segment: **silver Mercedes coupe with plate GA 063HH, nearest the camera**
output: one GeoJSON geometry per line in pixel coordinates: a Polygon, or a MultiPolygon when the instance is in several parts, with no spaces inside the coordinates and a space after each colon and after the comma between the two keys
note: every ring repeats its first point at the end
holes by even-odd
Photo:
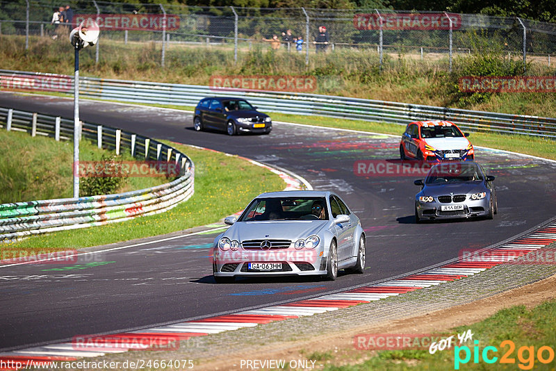
{"type": "Polygon", "coordinates": [[[331,192],[268,192],[214,240],[213,275],[218,283],[234,277],[320,275],[338,270],[363,273],[365,233],[361,222],[331,192]]]}

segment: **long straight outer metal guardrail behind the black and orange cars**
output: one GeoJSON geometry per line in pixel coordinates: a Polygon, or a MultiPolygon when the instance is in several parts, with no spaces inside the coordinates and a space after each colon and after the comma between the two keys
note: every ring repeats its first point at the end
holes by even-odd
{"type": "MultiPolygon", "coordinates": [[[[72,92],[72,76],[0,69],[2,90],[72,92]]],[[[556,139],[556,118],[457,108],[377,101],[330,95],[271,91],[230,91],[200,85],[152,83],[81,78],[81,94],[92,99],[145,104],[195,106],[210,96],[238,96],[269,112],[314,115],[372,122],[408,124],[412,121],[445,119],[462,129],[505,134],[535,135],[556,139]]]]}

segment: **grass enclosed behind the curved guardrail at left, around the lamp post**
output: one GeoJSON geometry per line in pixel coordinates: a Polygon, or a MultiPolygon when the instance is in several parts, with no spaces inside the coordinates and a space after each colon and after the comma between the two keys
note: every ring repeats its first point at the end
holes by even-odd
{"type": "MultiPolygon", "coordinates": [[[[72,197],[72,142],[38,135],[35,138],[19,131],[0,131],[0,204],[35,199],[72,197]]],[[[87,140],[80,145],[80,160],[101,160],[101,156],[115,154],[98,149],[87,140]]],[[[122,160],[133,160],[122,154],[122,160]]],[[[124,179],[116,192],[139,190],[165,183],[164,177],[134,177],[124,179]]]]}

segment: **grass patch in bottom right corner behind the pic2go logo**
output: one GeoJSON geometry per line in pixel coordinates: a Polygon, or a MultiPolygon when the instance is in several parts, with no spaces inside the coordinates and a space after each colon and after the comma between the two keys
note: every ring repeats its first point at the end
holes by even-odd
{"type": "MultiPolygon", "coordinates": [[[[495,315],[470,326],[456,327],[450,335],[463,333],[471,329],[473,340],[478,340],[478,361],[474,362],[473,342],[464,344],[469,347],[471,358],[467,363],[459,362],[459,370],[554,370],[555,358],[548,364],[541,363],[537,356],[539,348],[548,346],[552,354],[556,351],[556,301],[544,302],[528,310],[525,306],[514,306],[502,309],[495,315]],[[510,353],[510,345],[500,345],[504,340],[512,340],[515,349],[510,353]],[[482,358],[485,347],[493,346],[489,358],[498,357],[494,363],[486,363],[482,358]],[[521,347],[532,347],[533,352],[521,347]],[[514,363],[500,363],[504,354],[514,363]],[[521,357],[520,357],[521,355],[521,357]]],[[[455,336],[455,340],[457,337],[455,336]]],[[[456,345],[459,345],[456,343],[456,345]]],[[[376,356],[359,365],[344,365],[325,367],[326,371],[362,371],[362,370],[455,370],[455,348],[445,349],[435,354],[428,350],[404,349],[378,352],[376,356]]],[[[458,352],[459,359],[465,359],[465,351],[458,352]]],[[[545,349],[541,355],[549,358],[549,351],[545,349]]]]}

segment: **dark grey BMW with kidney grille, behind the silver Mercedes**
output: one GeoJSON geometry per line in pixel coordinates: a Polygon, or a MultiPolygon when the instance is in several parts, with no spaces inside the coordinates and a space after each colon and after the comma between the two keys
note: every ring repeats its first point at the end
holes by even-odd
{"type": "Polygon", "coordinates": [[[415,220],[486,217],[498,213],[494,176],[474,162],[439,163],[427,178],[415,181],[421,186],[415,197],[415,220]]]}

